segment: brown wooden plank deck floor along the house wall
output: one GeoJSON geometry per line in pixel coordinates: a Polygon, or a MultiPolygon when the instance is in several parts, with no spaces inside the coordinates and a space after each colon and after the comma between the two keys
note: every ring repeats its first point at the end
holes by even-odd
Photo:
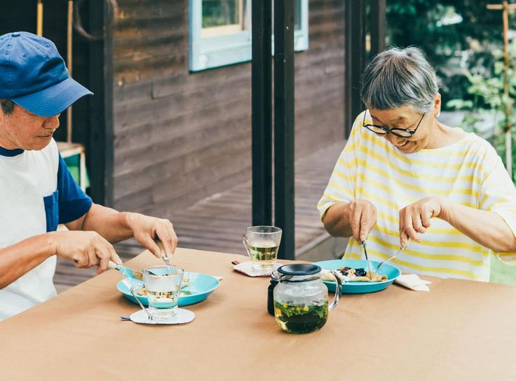
{"type": "MultiPolygon", "coordinates": [[[[299,255],[311,242],[325,234],[316,209],[344,140],[296,160],[295,163],[295,240],[299,255]]],[[[179,237],[179,247],[222,251],[245,255],[242,235],[251,224],[251,182],[217,193],[177,211],[171,218],[179,237]]],[[[116,244],[122,261],[140,254],[143,248],[134,240],[116,244]]],[[[77,269],[72,263],[58,261],[54,282],[64,291],[95,275],[95,269],[77,269]]]]}

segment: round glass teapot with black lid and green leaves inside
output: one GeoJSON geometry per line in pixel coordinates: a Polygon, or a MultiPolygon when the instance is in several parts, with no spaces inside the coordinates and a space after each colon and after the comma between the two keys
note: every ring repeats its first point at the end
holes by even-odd
{"type": "Polygon", "coordinates": [[[326,324],[328,311],[333,310],[341,298],[341,280],[337,292],[328,306],[328,289],[320,279],[321,268],[309,263],[283,265],[278,268],[279,283],[274,288],[274,317],[288,333],[317,331],[326,324]]]}

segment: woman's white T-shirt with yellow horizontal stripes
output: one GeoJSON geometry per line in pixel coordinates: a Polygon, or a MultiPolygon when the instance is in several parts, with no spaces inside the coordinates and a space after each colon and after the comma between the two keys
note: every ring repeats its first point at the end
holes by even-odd
{"type": "MultiPolygon", "coordinates": [[[[335,202],[372,202],[377,221],[367,239],[370,259],[388,258],[399,249],[400,209],[433,195],[496,212],[516,232],[516,188],[487,141],[468,133],[449,146],[402,153],[363,128],[363,118],[362,112],[353,123],[318,209],[322,218],[335,202]]],[[[368,112],[366,123],[372,123],[368,112]]],[[[433,219],[421,242],[410,242],[393,263],[402,272],[488,281],[489,251],[446,221],[433,219]]],[[[497,255],[516,265],[515,253],[497,255]]],[[[355,239],[344,256],[362,257],[355,239]]]]}

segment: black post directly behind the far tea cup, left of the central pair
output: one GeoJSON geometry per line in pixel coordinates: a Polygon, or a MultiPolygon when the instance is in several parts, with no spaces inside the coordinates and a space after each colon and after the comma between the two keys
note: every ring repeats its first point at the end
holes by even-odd
{"type": "Polygon", "coordinates": [[[272,5],[252,1],[252,224],[272,225],[272,5]]]}

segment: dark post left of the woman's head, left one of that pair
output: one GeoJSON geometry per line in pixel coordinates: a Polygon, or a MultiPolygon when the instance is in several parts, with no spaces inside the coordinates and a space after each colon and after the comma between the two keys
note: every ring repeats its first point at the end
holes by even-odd
{"type": "Polygon", "coordinates": [[[344,133],[346,137],[351,132],[353,120],[362,111],[360,99],[360,79],[365,64],[365,1],[346,0],[346,86],[344,99],[346,110],[344,118],[344,133]]]}

